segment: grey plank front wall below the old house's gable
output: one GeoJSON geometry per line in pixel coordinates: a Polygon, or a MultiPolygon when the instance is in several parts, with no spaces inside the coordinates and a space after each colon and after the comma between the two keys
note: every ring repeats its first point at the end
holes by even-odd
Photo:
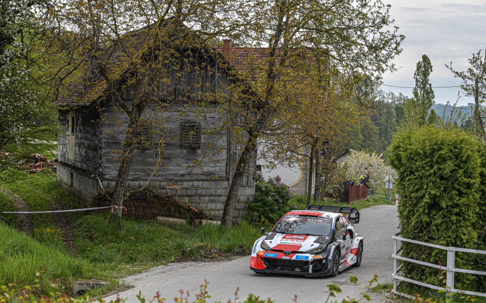
{"type": "MultiPolygon", "coordinates": [[[[165,132],[154,133],[152,148],[135,150],[127,188],[141,188],[148,185],[162,194],[174,196],[182,204],[192,205],[211,217],[220,218],[230,177],[234,171],[231,168],[238,160],[235,157],[239,155],[239,150],[229,150],[228,129],[219,129],[221,122],[216,108],[203,109],[173,105],[166,108],[164,113],[156,111],[157,108],[151,107],[146,110],[144,117],[155,119],[160,123],[163,121],[165,132]],[[205,114],[196,114],[201,111],[205,114]],[[180,124],[185,121],[200,123],[202,131],[200,149],[181,148],[180,124]],[[163,142],[160,151],[159,142],[163,142]],[[218,152],[208,154],[209,147],[218,152]],[[232,155],[232,158],[229,158],[229,155],[232,155]],[[194,161],[200,161],[200,167],[193,167],[194,161]]],[[[106,105],[101,116],[103,149],[100,177],[103,186],[113,188],[118,171],[117,158],[121,152],[121,142],[126,136],[128,116],[121,113],[119,108],[113,108],[112,105],[106,105]],[[117,114],[113,115],[113,113],[117,114]]],[[[251,166],[244,178],[243,187],[238,193],[239,203],[236,206],[238,217],[246,213],[244,203],[254,197],[253,172],[251,166]]]]}

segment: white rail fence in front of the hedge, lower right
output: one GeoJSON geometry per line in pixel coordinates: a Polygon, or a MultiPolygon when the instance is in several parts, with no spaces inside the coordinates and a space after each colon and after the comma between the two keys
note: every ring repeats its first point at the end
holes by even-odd
{"type": "Polygon", "coordinates": [[[403,238],[403,237],[400,237],[399,234],[394,235],[393,236],[393,255],[392,255],[392,257],[393,257],[393,275],[392,275],[393,276],[393,290],[392,290],[392,293],[397,294],[397,295],[401,295],[401,296],[405,296],[405,297],[409,297],[409,298],[413,298],[413,296],[411,296],[409,294],[402,293],[402,292],[399,292],[399,291],[396,290],[397,281],[400,280],[400,281],[406,281],[406,282],[410,282],[410,283],[417,284],[417,285],[420,285],[420,286],[432,288],[432,289],[435,289],[435,290],[444,290],[444,291],[447,291],[447,292],[450,292],[450,293],[463,293],[463,294],[469,294],[469,295],[486,296],[486,293],[483,293],[483,292],[456,289],[454,287],[454,274],[456,272],[486,276],[485,271],[456,268],[456,251],[470,252],[471,254],[486,255],[486,250],[477,250],[477,249],[468,249],[468,248],[459,248],[459,247],[446,247],[446,246],[435,245],[435,244],[430,244],[430,243],[425,243],[425,242],[421,242],[421,241],[403,238]],[[447,250],[447,265],[444,267],[444,266],[440,266],[440,265],[436,265],[436,264],[432,264],[432,263],[422,262],[422,261],[398,256],[398,253],[401,251],[401,247],[399,249],[397,249],[398,248],[398,241],[410,242],[410,243],[415,243],[417,245],[423,245],[423,246],[429,246],[429,247],[433,247],[433,248],[447,250]],[[412,262],[412,263],[415,263],[415,264],[420,264],[420,265],[433,267],[433,268],[437,268],[439,270],[446,271],[446,288],[399,276],[398,272],[400,271],[401,267],[397,268],[397,260],[402,260],[402,261],[405,261],[405,262],[412,262]]]}

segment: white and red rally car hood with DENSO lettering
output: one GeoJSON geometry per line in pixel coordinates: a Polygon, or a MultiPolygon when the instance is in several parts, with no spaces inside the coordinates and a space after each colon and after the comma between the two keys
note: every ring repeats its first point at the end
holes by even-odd
{"type": "Polygon", "coordinates": [[[265,237],[265,243],[275,251],[304,252],[319,245],[330,242],[329,236],[307,236],[294,234],[270,233],[265,237]]]}

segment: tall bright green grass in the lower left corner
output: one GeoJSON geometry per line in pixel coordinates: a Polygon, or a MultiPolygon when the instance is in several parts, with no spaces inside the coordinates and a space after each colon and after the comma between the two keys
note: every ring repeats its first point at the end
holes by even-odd
{"type": "Polygon", "coordinates": [[[0,223],[0,247],[1,285],[14,281],[18,286],[33,285],[38,279],[38,290],[47,293],[53,290],[54,279],[59,279],[60,285],[68,289],[74,278],[92,275],[89,262],[57,246],[38,242],[3,223],[0,223]]]}

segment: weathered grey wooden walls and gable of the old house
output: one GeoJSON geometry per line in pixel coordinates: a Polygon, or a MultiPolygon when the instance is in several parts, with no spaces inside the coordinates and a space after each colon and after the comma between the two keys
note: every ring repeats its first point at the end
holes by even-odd
{"type": "MultiPolygon", "coordinates": [[[[221,123],[215,106],[201,108],[191,102],[201,99],[209,100],[209,104],[228,102],[224,95],[231,80],[213,59],[202,55],[194,55],[191,60],[181,59],[177,69],[169,70],[169,81],[161,82],[157,89],[157,98],[168,107],[153,104],[144,112],[143,119],[150,122],[153,130],[154,144],[135,151],[126,187],[135,189],[148,185],[162,194],[174,196],[182,204],[192,205],[213,218],[221,218],[240,148],[231,146],[227,127],[208,134],[221,123]],[[180,127],[184,121],[200,124],[200,148],[181,148],[180,127]],[[211,159],[208,155],[205,157],[207,143],[212,143],[212,149],[218,150],[211,159]],[[195,161],[199,162],[199,167],[192,168],[195,161]]],[[[119,92],[127,105],[138,93],[136,87],[119,92]]],[[[88,173],[97,173],[106,189],[114,187],[117,158],[126,136],[128,116],[123,110],[110,100],[105,100],[101,108],[100,112],[77,110],[79,125],[74,161],[68,159],[68,111],[60,111],[59,115],[59,124],[63,128],[59,138],[59,160],[65,165],[61,163],[58,179],[74,194],[84,194],[84,197],[93,194],[98,186],[94,183],[89,188],[88,183],[95,179],[84,178],[88,173]],[[72,187],[69,186],[71,172],[76,174],[72,187]]],[[[247,212],[245,202],[254,198],[254,165],[247,169],[237,196],[236,217],[247,212]]]]}

